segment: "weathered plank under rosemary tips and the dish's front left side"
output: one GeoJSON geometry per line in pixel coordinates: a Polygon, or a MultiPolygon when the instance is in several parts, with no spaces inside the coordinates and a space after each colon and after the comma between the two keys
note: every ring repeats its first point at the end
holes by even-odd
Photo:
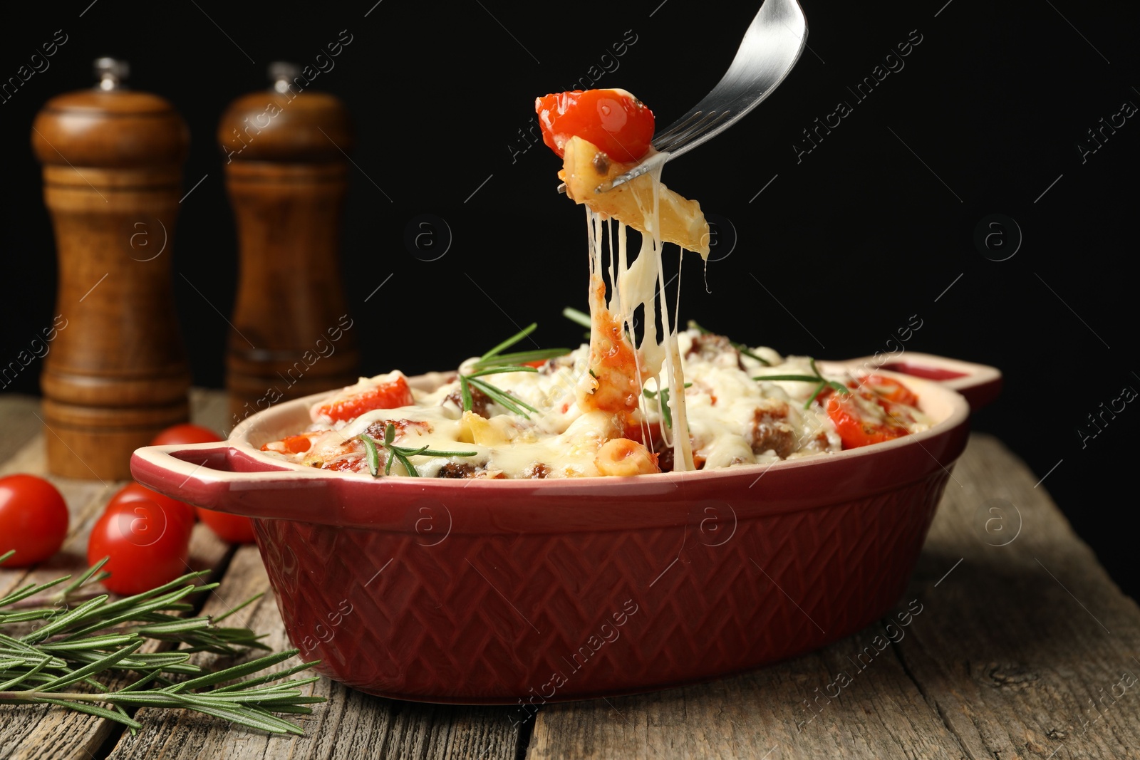
{"type": "MultiPolygon", "coordinates": [[[[264,591],[258,603],[227,620],[269,632],[274,649],[288,639],[269,579],[256,547],[242,547],[230,563],[225,583],[204,612],[219,614],[250,596],[264,591]]],[[[201,655],[211,660],[213,655],[201,655]]],[[[295,662],[295,661],[293,661],[295,662]]],[[[286,668],[293,662],[282,663],[286,668]]],[[[416,704],[370,696],[321,679],[312,694],[328,700],[300,717],[304,736],[267,736],[259,732],[189,711],[140,710],[137,719],[147,730],[124,734],[108,760],[163,757],[171,760],[227,757],[234,760],[268,758],[514,758],[518,730],[505,708],[416,704]]]]}

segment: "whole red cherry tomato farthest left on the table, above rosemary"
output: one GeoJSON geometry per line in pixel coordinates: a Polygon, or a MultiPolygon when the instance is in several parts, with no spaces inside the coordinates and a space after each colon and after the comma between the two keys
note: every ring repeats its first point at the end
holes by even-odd
{"type": "Polygon", "coordinates": [[[56,487],[35,475],[0,477],[0,554],[15,549],[5,567],[47,559],[67,537],[67,505],[56,487]]]}

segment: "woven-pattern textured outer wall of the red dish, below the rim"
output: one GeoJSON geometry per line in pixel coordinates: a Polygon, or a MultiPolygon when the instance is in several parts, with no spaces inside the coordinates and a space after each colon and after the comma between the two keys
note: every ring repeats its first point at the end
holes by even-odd
{"type": "Polygon", "coordinates": [[[538,704],[715,678],[864,628],[902,595],[946,479],[738,516],[722,546],[709,544],[731,512],[700,501],[675,528],[505,526],[438,546],[426,531],[263,520],[258,546],[290,638],[329,678],[402,700],[538,704]],[[708,520],[720,524],[701,531],[708,520]]]}

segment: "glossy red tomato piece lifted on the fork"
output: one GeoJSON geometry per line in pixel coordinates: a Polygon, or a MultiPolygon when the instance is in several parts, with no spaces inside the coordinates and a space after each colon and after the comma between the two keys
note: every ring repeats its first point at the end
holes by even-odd
{"type": "Polygon", "coordinates": [[[619,163],[637,161],[653,140],[653,112],[625,90],[573,90],[535,98],[543,141],[562,156],[571,137],[619,163]]]}

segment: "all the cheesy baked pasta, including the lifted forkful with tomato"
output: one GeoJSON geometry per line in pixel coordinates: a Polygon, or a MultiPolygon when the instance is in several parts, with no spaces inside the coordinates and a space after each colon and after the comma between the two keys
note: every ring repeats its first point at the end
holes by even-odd
{"type": "Polygon", "coordinates": [[[700,204],[661,185],[660,164],[604,189],[652,150],[652,112],[625,90],[549,95],[536,111],[567,195],[586,207],[589,343],[504,353],[531,326],[431,387],[399,371],[361,378],[264,451],[377,477],[632,476],[826,455],[928,426],[894,379],[829,377],[807,357],[670,324],[662,246],[708,255],[700,204]],[[642,232],[636,253],[627,227],[642,232]]]}

